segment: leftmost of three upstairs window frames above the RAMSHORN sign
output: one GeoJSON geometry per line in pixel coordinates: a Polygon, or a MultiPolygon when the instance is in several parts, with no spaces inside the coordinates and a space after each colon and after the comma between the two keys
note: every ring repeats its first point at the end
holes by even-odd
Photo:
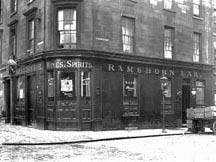
{"type": "Polygon", "coordinates": [[[131,54],[131,53],[135,52],[135,18],[128,17],[128,16],[122,16],[121,40],[122,40],[122,51],[124,53],[130,53],[131,54]],[[129,30],[131,32],[131,35],[130,34],[127,35],[126,32],[124,32],[124,30],[123,30],[124,26],[131,27],[131,28],[127,28],[127,30],[129,30]],[[125,44],[124,43],[125,42],[125,37],[128,38],[128,42],[130,42],[130,44],[125,44]],[[127,46],[127,47],[129,46],[130,49],[129,50],[125,49],[126,48],[125,46],[127,46]]]}

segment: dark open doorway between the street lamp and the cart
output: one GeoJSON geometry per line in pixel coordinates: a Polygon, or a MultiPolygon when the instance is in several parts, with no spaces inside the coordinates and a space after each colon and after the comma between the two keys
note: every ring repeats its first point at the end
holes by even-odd
{"type": "Polygon", "coordinates": [[[182,86],[182,123],[186,124],[187,109],[190,108],[190,86],[182,86]]]}

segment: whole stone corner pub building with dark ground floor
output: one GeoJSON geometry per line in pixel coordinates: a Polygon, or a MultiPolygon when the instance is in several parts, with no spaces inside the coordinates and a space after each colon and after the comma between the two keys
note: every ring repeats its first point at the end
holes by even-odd
{"type": "Polygon", "coordinates": [[[6,121],[49,130],[162,128],[164,113],[166,127],[185,124],[187,108],[213,104],[213,9],[179,3],[10,1],[15,11],[3,10],[2,27],[10,37],[2,54],[6,121]],[[8,67],[9,59],[17,64],[8,67]]]}

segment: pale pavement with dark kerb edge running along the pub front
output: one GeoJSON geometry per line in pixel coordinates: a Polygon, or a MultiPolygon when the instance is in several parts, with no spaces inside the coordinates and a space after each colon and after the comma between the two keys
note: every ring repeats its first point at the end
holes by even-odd
{"type": "Polygon", "coordinates": [[[53,145],[191,134],[187,128],[112,131],[52,131],[0,122],[0,145],[53,145]]]}

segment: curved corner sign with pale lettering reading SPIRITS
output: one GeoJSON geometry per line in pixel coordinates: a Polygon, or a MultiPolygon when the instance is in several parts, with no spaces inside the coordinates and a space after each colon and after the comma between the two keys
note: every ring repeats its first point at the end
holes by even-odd
{"type": "Polygon", "coordinates": [[[86,61],[62,60],[57,59],[53,62],[47,62],[48,69],[61,69],[61,68],[92,68],[92,63],[86,61]]]}

